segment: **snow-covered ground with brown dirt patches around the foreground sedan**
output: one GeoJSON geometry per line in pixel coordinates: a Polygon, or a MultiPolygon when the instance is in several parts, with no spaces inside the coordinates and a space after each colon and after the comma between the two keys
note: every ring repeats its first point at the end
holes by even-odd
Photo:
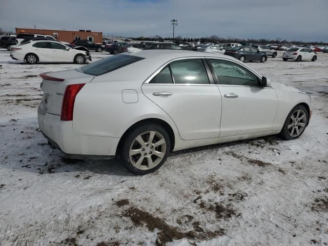
{"type": "Polygon", "coordinates": [[[117,160],[65,159],[40,133],[37,75],[78,65],[0,50],[0,245],[327,245],[328,54],[247,64],[312,93],[299,139],[179,151],[134,176],[117,160]]]}

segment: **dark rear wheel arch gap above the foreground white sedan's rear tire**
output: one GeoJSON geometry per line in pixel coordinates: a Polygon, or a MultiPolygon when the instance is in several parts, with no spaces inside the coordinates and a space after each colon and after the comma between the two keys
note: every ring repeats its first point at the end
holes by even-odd
{"type": "Polygon", "coordinates": [[[129,127],[125,131],[125,133],[119,139],[118,145],[116,147],[116,155],[119,154],[118,150],[120,149],[122,144],[124,144],[124,140],[127,138],[129,133],[131,133],[135,128],[137,128],[141,125],[145,125],[145,124],[156,124],[156,125],[159,125],[162,128],[164,128],[167,131],[167,133],[169,134],[169,137],[170,137],[170,142],[171,142],[171,150],[170,151],[172,151],[174,149],[175,136],[174,136],[174,131],[173,131],[172,127],[170,126],[170,124],[168,124],[168,122],[166,122],[165,120],[162,120],[162,119],[148,118],[148,119],[142,119],[142,120],[139,120],[139,121],[135,122],[135,124],[133,124],[131,127],[129,127]]]}

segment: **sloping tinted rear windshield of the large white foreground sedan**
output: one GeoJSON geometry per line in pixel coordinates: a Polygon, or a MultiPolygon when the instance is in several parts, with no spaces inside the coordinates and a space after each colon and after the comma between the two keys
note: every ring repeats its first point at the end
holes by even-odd
{"type": "Polygon", "coordinates": [[[128,66],[129,64],[135,63],[136,61],[142,59],[145,58],[133,55],[114,55],[105,59],[97,60],[94,63],[75,70],[81,73],[98,76],[128,66]]]}

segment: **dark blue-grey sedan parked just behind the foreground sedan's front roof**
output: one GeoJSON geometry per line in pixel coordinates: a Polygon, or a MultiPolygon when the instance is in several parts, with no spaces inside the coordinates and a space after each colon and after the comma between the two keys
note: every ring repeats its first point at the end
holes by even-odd
{"type": "Polygon", "coordinates": [[[224,52],[225,55],[230,55],[244,62],[245,60],[253,61],[259,60],[264,63],[268,59],[268,55],[265,52],[259,51],[254,47],[237,47],[233,49],[228,49],[224,52]]]}

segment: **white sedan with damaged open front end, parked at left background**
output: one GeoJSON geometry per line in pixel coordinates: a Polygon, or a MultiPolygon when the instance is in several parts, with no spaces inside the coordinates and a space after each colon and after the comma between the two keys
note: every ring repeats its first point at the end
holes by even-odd
{"type": "Polygon", "coordinates": [[[91,59],[87,51],[72,49],[59,42],[31,40],[29,43],[11,48],[11,58],[24,60],[28,64],[40,62],[72,62],[83,64],[91,59]]]}

